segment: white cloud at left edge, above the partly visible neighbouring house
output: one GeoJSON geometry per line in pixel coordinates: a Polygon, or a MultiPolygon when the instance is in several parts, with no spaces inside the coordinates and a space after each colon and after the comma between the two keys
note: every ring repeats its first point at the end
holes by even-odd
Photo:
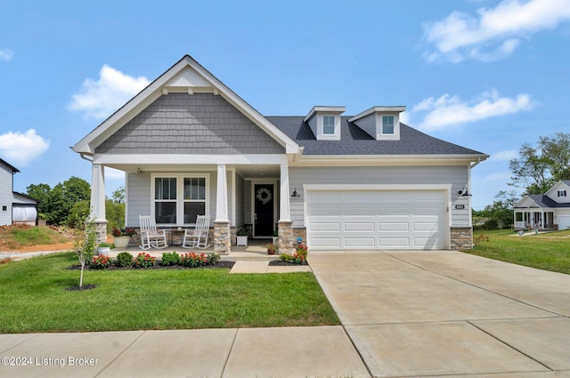
{"type": "Polygon", "coordinates": [[[0,155],[10,164],[28,165],[49,148],[50,141],[37,135],[34,129],[26,133],[0,134],[0,155]]]}

